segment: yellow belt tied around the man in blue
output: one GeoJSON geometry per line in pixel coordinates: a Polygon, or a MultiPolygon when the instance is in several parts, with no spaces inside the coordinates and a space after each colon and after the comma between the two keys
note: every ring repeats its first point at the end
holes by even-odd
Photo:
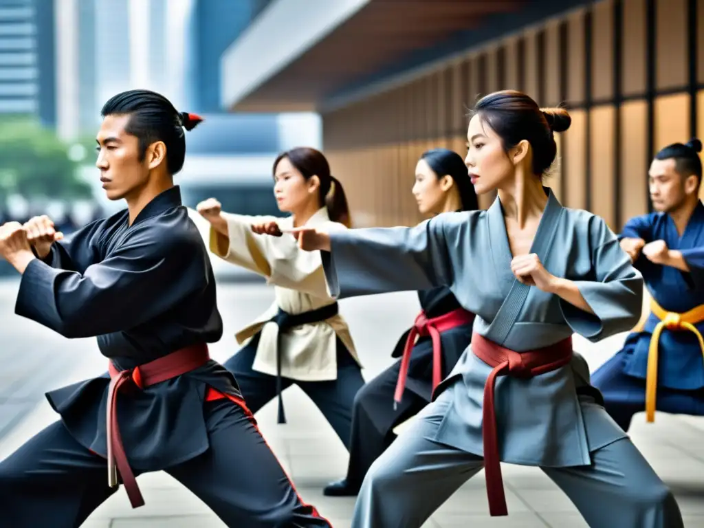
{"type": "Polygon", "coordinates": [[[692,308],[685,313],[668,312],[663,309],[655,299],[650,299],[650,310],[655,317],[660,319],[655,325],[653,337],[650,338],[648,347],[648,374],[646,375],[646,420],[655,422],[655,393],[658,391],[658,342],[663,328],[668,330],[689,330],[699,340],[702,354],[704,355],[704,339],[699,330],[694,326],[704,321],[704,304],[692,308]]]}

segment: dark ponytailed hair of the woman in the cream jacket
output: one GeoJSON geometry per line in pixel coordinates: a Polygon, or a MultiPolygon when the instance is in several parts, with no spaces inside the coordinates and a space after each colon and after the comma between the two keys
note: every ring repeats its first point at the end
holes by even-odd
{"type": "Polygon", "coordinates": [[[330,174],[330,165],[322,152],[308,146],[298,146],[295,149],[282,152],[274,162],[273,172],[276,172],[279,161],[284,158],[287,158],[306,180],[318,176],[318,180],[320,180],[320,207],[327,207],[327,214],[333,222],[351,227],[352,222],[345,191],[337,178],[330,174]]]}

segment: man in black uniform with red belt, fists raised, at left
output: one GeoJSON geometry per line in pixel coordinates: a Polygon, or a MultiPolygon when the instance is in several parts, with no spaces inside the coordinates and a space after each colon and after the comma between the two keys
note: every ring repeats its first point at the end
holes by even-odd
{"type": "Polygon", "coordinates": [[[135,475],[165,470],[230,527],[329,527],[208,357],[222,335],[215,280],[173,184],[183,129],[200,118],[144,90],[114,96],[102,114],[96,165],[127,209],[58,241],[46,217],[0,228],[0,253],[22,273],[16,313],[68,338],[96,336],[109,367],[49,392],[61,420],[0,463],[3,526],[78,527],[118,482],[136,508],[135,475]]]}

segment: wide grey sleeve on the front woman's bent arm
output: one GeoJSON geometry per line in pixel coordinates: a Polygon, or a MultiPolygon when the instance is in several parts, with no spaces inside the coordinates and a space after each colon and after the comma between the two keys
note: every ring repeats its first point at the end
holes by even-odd
{"type": "Polygon", "coordinates": [[[568,325],[589,341],[600,341],[633,328],[641,317],[643,276],[619,245],[603,219],[592,216],[588,225],[591,277],[575,280],[579,292],[594,311],[581,310],[560,298],[568,325]]]}

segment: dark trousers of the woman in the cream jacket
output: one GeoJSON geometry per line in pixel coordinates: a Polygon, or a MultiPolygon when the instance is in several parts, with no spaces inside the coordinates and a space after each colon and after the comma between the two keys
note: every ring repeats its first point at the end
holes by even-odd
{"type": "MultiPolygon", "coordinates": [[[[276,377],[252,370],[259,337],[256,334],[249,343],[232,358],[223,363],[237,379],[244,401],[252,413],[276,397],[276,377]]],[[[337,379],[327,382],[299,382],[284,377],[282,387],[296,384],[325,416],[346,448],[349,448],[352,426],[352,405],[355,395],[364,386],[362,370],[344,344],[337,339],[337,379]]],[[[284,396],[284,406],[286,397],[284,396]]]]}

